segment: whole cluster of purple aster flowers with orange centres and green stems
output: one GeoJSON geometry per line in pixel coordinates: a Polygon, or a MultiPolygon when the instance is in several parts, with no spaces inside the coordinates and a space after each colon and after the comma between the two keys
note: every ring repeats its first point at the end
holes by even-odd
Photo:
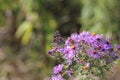
{"type": "Polygon", "coordinates": [[[53,68],[51,80],[64,80],[66,75],[71,76],[72,73],[93,73],[96,66],[108,69],[108,65],[118,58],[116,52],[120,50],[120,46],[112,46],[109,38],[104,39],[102,34],[87,31],[73,33],[65,41],[57,32],[52,44],[48,54],[59,58],[62,64],[53,68]]]}

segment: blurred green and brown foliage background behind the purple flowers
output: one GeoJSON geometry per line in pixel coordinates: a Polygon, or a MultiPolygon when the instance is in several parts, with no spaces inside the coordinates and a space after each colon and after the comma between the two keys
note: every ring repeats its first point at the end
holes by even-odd
{"type": "MultiPolygon", "coordinates": [[[[84,30],[120,44],[120,0],[0,0],[0,80],[49,80],[54,32],[84,30]]],[[[120,62],[107,73],[120,80],[120,62]]]]}

